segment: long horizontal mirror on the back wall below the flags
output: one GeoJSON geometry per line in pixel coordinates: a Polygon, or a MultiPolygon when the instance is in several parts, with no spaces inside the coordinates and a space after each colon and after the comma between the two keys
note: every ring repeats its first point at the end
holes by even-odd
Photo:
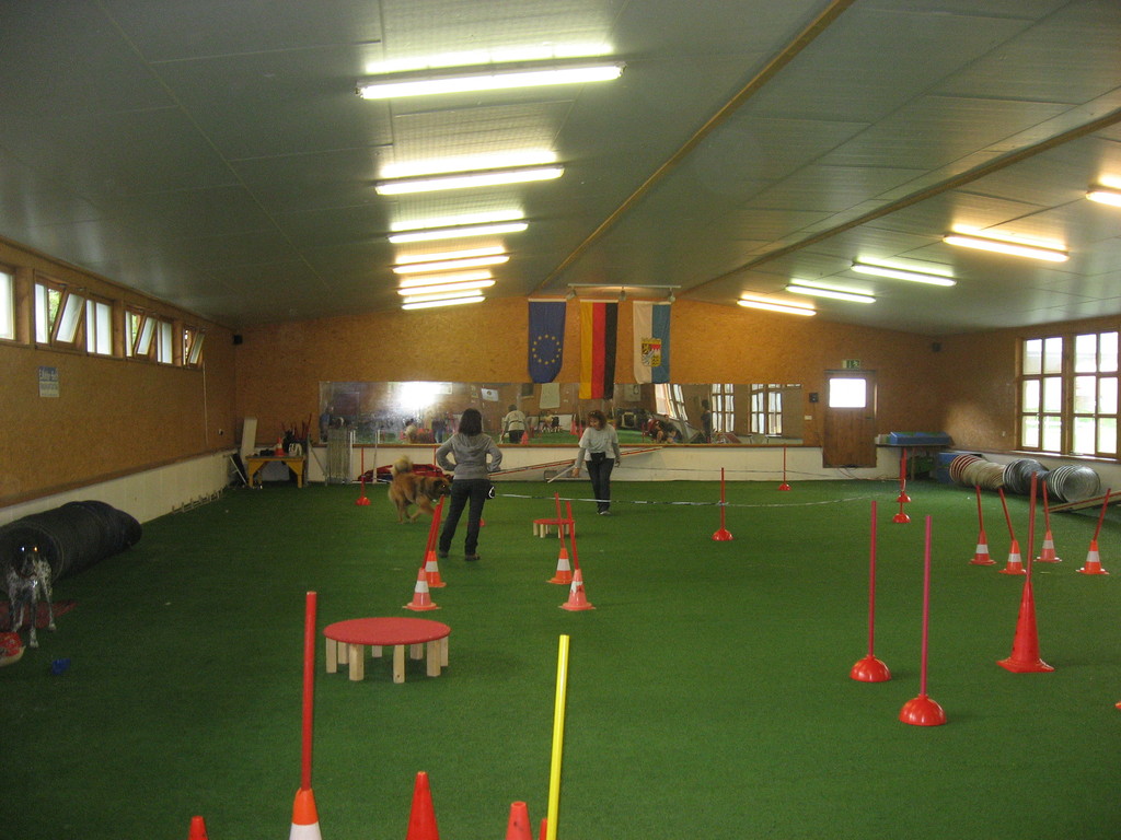
{"type": "Polygon", "coordinates": [[[575,444],[587,412],[614,422],[622,444],[800,444],[798,384],[620,383],[611,399],[581,400],[577,383],[321,382],[319,440],[327,429],[354,430],[354,442],[439,444],[466,408],[500,442],[511,408],[526,416],[529,445],[575,444]]]}

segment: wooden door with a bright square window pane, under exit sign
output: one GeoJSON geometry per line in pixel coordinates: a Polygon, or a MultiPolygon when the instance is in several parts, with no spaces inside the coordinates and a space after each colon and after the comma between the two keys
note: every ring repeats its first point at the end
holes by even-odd
{"type": "Polygon", "coordinates": [[[874,371],[825,372],[822,466],[876,466],[874,371]]]}

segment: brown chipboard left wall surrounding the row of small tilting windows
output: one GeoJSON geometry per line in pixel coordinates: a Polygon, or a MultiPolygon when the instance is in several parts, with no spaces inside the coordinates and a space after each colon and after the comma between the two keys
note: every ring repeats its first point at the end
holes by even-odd
{"type": "Polygon", "coordinates": [[[0,342],[0,508],[233,446],[229,329],[3,241],[0,265],[17,295],[44,277],[206,332],[205,371],[0,342]],[[57,398],[39,395],[40,366],[57,371],[57,398]]]}

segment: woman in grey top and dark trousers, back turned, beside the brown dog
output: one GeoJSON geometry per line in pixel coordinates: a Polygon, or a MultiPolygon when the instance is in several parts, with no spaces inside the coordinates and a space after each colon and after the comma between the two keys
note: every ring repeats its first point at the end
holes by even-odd
{"type": "Polygon", "coordinates": [[[460,523],[463,508],[467,507],[467,535],[463,542],[463,559],[479,559],[479,522],[483,505],[493,492],[490,474],[498,472],[502,450],[483,435],[483,417],[479,409],[465,409],[460,428],[436,450],[436,463],[452,473],[452,504],[439,532],[437,557],[444,559],[452,548],[452,538],[460,523]],[[452,457],[448,458],[448,455],[452,457]]]}

